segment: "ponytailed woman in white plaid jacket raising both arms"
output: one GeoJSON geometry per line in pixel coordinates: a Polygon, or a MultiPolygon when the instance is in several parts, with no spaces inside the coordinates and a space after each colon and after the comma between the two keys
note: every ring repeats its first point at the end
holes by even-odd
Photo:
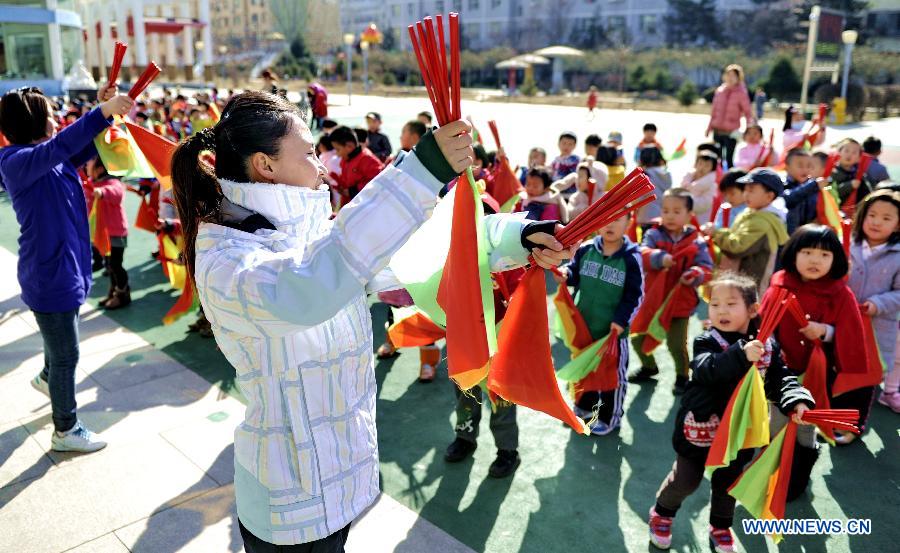
{"type": "MultiPolygon", "coordinates": [[[[366,294],[391,287],[382,276],[392,255],[471,165],[470,131],[456,121],[427,133],[334,219],[312,135],[282,98],[239,94],[175,151],[185,262],[247,400],[234,484],[248,553],[343,551],[350,523],[378,496],[366,294]],[[215,174],[198,159],[204,150],[215,174]]],[[[552,223],[489,216],[485,226],[493,270],[528,253],[542,266],[571,254],[552,223]]]]}

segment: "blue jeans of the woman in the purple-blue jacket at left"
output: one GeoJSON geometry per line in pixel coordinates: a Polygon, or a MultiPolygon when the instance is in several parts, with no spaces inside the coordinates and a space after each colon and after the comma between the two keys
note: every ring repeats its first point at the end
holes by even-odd
{"type": "Polygon", "coordinates": [[[77,422],[75,367],[78,365],[78,309],[63,313],[34,311],[34,318],[44,340],[41,378],[50,384],[53,426],[57,432],[65,432],[77,422]]]}

